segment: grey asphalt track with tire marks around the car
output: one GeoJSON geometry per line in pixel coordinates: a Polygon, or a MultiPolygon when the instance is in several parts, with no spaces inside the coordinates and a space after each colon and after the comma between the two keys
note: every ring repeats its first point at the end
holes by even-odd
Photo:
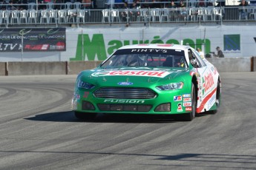
{"type": "Polygon", "coordinates": [[[256,72],[191,122],[70,112],[76,75],[0,77],[0,169],[256,169],[256,72]]]}

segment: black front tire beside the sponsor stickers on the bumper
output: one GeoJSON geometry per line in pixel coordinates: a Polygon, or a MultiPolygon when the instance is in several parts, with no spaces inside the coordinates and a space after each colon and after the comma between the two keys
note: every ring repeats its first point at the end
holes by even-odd
{"type": "Polygon", "coordinates": [[[196,91],[194,88],[194,84],[192,83],[191,86],[191,103],[192,103],[192,111],[183,115],[182,116],[182,120],[183,121],[191,121],[194,119],[194,117],[196,116],[196,109],[197,109],[197,95],[196,95],[196,91]]]}

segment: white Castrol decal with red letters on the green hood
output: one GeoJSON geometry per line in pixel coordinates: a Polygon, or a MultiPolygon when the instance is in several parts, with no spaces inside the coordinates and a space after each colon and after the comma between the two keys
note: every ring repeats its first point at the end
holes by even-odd
{"type": "Polygon", "coordinates": [[[104,71],[104,72],[94,72],[91,74],[94,77],[107,76],[107,75],[131,75],[131,76],[148,76],[164,78],[170,72],[165,71],[144,71],[144,70],[115,70],[115,71],[104,71]]]}

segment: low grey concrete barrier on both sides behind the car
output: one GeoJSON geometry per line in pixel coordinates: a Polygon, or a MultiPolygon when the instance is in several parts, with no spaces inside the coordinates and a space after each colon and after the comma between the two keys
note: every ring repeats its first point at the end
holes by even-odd
{"type": "MultiPolygon", "coordinates": [[[[256,57],[209,58],[219,72],[256,72],[256,57]]],[[[77,75],[102,61],[0,62],[0,75],[77,75]]]]}

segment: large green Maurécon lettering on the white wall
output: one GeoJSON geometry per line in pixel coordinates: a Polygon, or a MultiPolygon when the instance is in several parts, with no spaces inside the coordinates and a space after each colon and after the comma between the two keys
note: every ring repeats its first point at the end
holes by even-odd
{"type": "Polygon", "coordinates": [[[194,46],[194,44],[203,44],[206,49],[206,53],[209,53],[211,49],[211,41],[208,38],[201,39],[183,37],[183,39],[180,40],[180,38],[174,39],[171,35],[166,37],[154,33],[147,36],[146,39],[138,39],[137,36],[128,36],[126,39],[122,38],[119,40],[118,38],[114,38],[114,36],[111,37],[111,35],[108,36],[105,33],[78,34],[76,39],[76,44],[86,44],[86,46],[77,46],[75,52],[76,56],[74,58],[70,58],[70,61],[104,61],[108,58],[108,55],[111,55],[116,51],[116,49],[124,46],[125,44],[141,44],[140,47],[148,46],[147,44],[187,44],[191,46],[194,46]],[[84,49],[84,52],[81,55],[82,49],[84,49]]]}

